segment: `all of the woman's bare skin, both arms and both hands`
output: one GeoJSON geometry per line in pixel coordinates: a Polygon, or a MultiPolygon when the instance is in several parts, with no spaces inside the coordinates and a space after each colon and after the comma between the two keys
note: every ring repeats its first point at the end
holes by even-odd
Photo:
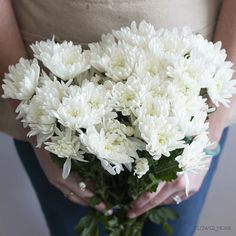
{"type": "MultiPolygon", "coordinates": [[[[214,41],[222,41],[223,47],[228,52],[228,59],[232,62],[236,62],[236,1],[235,0],[224,0],[220,17],[217,23],[216,32],[214,35],[214,41]]],[[[17,22],[9,0],[0,0],[0,78],[7,71],[7,68],[11,64],[18,62],[20,57],[26,57],[26,51],[20,37],[17,22]],[[10,50],[9,50],[10,49],[10,50]]],[[[232,103],[236,100],[232,98],[232,103]]],[[[13,107],[17,106],[17,103],[11,102],[13,107]]],[[[211,114],[209,123],[209,135],[211,141],[218,142],[224,129],[224,123],[229,114],[229,109],[220,107],[217,111],[211,114]]],[[[18,121],[16,121],[18,122],[18,121]]],[[[29,141],[32,147],[35,147],[34,139],[26,139],[27,130],[23,129],[19,124],[19,129],[22,130],[22,140],[29,141]]],[[[209,148],[214,148],[212,145],[209,148]]],[[[71,173],[66,179],[62,179],[62,172],[49,158],[49,153],[44,149],[34,148],[37,159],[47,176],[49,182],[58,188],[63,194],[70,193],[69,200],[74,203],[81,205],[87,205],[89,197],[93,193],[86,188],[86,191],[81,191],[78,183],[80,178],[77,174],[71,173]]],[[[210,162],[209,162],[210,165],[210,162]]],[[[209,167],[208,165],[208,167],[209,167]]],[[[202,171],[199,175],[189,174],[190,195],[197,192],[202,184],[202,181],[207,173],[207,169],[202,171]]],[[[129,212],[128,217],[137,217],[149,209],[161,205],[171,203],[173,200],[171,196],[178,194],[182,197],[182,200],[187,197],[184,194],[185,181],[183,176],[171,183],[160,183],[157,191],[154,193],[144,193],[139,199],[133,202],[132,210],[129,212]]],[[[103,203],[97,206],[98,210],[103,210],[105,205],[103,203]]]]}

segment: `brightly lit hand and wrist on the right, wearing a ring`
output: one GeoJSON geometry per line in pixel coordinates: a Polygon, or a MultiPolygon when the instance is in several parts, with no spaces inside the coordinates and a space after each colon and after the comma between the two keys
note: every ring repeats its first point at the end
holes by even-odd
{"type": "MultiPolygon", "coordinates": [[[[219,110],[222,108],[219,108],[219,110]]],[[[219,111],[218,111],[219,112],[219,111]]],[[[215,144],[211,145],[209,149],[214,149],[217,142],[219,142],[224,129],[224,119],[222,116],[217,115],[217,111],[209,116],[209,139],[214,141],[215,144]]],[[[211,163],[209,158],[209,163],[206,169],[199,172],[199,174],[188,173],[189,178],[189,196],[196,193],[207,174],[211,163]]],[[[135,218],[148,210],[164,204],[176,203],[179,197],[181,201],[186,200],[188,197],[185,194],[186,181],[184,175],[180,175],[176,180],[172,182],[161,182],[156,192],[143,193],[136,201],[131,204],[132,209],[128,213],[129,218],[135,218]],[[177,199],[174,198],[177,196],[177,199]]]]}

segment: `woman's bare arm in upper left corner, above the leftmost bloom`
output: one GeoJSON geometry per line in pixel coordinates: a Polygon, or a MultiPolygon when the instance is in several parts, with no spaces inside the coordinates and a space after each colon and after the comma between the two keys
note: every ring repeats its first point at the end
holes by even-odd
{"type": "Polygon", "coordinates": [[[10,0],[0,0],[0,78],[8,66],[26,56],[10,0]]]}

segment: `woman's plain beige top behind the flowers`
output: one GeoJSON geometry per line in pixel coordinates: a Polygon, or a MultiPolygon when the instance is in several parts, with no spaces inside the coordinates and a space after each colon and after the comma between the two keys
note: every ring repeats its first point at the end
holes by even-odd
{"type": "MultiPolygon", "coordinates": [[[[55,35],[58,40],[86,45],[133,20],[146,20],[156,28],[188,25],[211,39],[221,0],[12,0],[12,4],[32,56],[29,44],[36,40],[55,35]]],[[[16,115],[5,100],[0,100],[0,129],[20,137],[16,115]]]]}

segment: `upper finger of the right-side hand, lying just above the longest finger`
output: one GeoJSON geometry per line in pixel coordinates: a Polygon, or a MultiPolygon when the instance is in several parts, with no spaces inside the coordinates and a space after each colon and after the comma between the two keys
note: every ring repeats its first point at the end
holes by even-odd
{"type": "Polygon", "coordinates": [[[164,187],[165,184],[166,184],[165,182],[159,183],[156,192],[143,193],[137,200],[135,200],[131,204],[131,207],[132,208],[142,208],[144,205],[146,205],[149,201],[151,201],[161,191],[161,189],[164,187]]]}

